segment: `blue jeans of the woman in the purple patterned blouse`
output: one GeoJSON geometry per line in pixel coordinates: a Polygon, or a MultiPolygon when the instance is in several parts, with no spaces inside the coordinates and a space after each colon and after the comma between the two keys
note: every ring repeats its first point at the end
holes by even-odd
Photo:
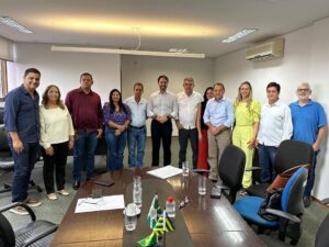
{"type": "Polygon", "coordinates": [[[118,136],[115,136],[114,133],[114,128],[106,127],[105,141],[110,154],[107,159],[107,169],[110,171],[123,169],[123,154],[127,143],[127,131],[124,131],[118,136]]]}

